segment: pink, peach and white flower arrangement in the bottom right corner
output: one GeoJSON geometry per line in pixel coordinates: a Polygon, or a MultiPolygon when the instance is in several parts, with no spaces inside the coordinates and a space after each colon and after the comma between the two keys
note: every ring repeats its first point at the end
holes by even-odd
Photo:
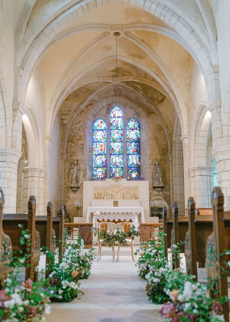
{"type": "Polygon", "coordinates": [[[207,287],[192,281],[179,282],[179,288],[166,293],[172,302],[165,304],[160,314],[164,322],[221,322],[222,306],[227,299],[217,302],[207,297],[207,287]]]}

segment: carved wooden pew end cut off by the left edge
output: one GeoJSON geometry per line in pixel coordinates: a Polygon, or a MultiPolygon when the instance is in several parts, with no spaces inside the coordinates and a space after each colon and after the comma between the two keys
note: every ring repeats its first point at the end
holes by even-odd
{"type": "Polygon", "coordinates": [[[3,231],[2,219],[3,219],[3,205],[4,205],[4,194],[0,188],[0,245],[1,245],[1,256],[0,256],[0,287],[11,271],[11,267],[7,266],[10,263],[12,244],[10,236],[6,235],[3,231]],[[6,254],[10,253],[10,255],[6,254]]]}

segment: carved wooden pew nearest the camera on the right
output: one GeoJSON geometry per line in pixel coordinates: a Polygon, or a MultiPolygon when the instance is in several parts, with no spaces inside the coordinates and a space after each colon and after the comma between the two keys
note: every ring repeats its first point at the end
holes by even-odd
{"type": "MultiPolygon", "coordinates": [[[[225,262],[230,260],[224,250],[230,249],[230,212],[224,212],[224,195],[220,187],[215,187],[212,194],[213,207],[213,231],[206,241],[206,270],[207,277],[214,279],[216,283],[210,291],[211,298],[219,299],[222,296],[228,297],[228,283],[225,273],[221,267],[226,268],[225,262]],[[210,250],[212,254],[210,255],[210,250]],[[225,276],[225,277],[224,277],[225,276]],[[217,293],[215,291],[218,291],[217,293]]],[[[229,303],[223,304],[225,321],[229,321],[229,303]]]]}

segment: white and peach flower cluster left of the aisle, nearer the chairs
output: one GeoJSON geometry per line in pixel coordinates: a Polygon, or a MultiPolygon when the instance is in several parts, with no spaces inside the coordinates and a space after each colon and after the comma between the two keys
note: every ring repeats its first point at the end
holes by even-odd
{"type": "Polygon", "coordinates": [[[45,288],[50,291],[52,301],[71,302],[74,298],[80,298],[81,292],[79,279],[88,278],[92,261],[96,258],[93,250],[84,251],[84,242],[79,236],[71,244],[65,246],[65,252],[59,262],[55,254],[48,252],[51,260],[51,270],[45,288]]]}

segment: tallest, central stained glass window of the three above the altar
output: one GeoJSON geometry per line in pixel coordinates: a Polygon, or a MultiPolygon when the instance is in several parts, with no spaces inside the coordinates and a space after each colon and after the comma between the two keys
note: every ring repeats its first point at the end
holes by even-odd
{"type": "Polygon", "coordinates": [[[123,113],[115,106],[110,113],[110,178],[123,177],[123,113]]]}

